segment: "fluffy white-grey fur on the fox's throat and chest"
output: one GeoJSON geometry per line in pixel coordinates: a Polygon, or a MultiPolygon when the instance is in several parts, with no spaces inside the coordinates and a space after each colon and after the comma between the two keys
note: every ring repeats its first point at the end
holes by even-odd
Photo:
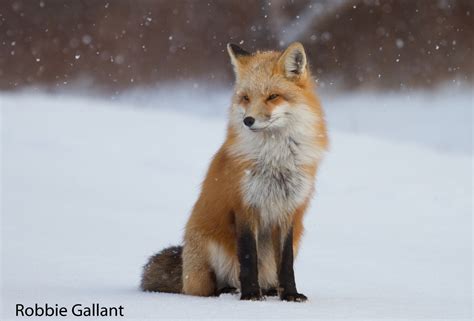
{"type": "Polygon", "coordinates": [[[263,227],[283,223],[310,197],[314,177],[303,168],[316,165],[323,152],[315,143],[318,119],[306,106],[280,111],[286,126],[263,132],[243,127],[242,109],[234,108],[231,114],[238,142],[230,152],[252,164],[242,178],[241,192],[246,205],[260,212],[263,227]]]}

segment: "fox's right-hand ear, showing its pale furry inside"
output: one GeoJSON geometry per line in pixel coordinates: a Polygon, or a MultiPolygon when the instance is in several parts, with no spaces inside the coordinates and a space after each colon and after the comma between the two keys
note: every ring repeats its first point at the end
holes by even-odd
{"type": "Polygon", "coordinates": [[[299,79],[306,75],[306,53],[299,42],[292,43],[280,56],[278,64],[284,75],[290,79],[299,79]]]}

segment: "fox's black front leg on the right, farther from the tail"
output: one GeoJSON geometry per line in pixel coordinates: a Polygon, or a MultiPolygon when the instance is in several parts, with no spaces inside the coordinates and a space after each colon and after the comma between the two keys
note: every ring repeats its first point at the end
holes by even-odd
{"type": "Polygon", "coordinates": [[[293,270],[293,228],[290,228],[283,243],[278,281],[281,288],[280,299],[295,302],[304,302],[308,299],[296,290],[293,270]]]}

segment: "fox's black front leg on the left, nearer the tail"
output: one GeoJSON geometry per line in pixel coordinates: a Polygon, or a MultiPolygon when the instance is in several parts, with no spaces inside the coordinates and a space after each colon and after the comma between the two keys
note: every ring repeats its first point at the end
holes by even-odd
{"type": "Polygon", "coordinates": [[[238,241],[240,263],[241,300],[261,300],[262,294],[258,285],[258,259],[255,235],[250,229],[241,231],[238,241]]]}

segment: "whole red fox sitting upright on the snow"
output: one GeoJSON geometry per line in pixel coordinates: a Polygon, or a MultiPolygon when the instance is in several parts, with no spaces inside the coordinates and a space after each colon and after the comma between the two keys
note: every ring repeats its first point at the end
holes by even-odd
{"type": "Polygon", "coordinates": [[[145,291],[303,302],[293,260],[328,146],[300,43],[249,53],[227,45],[236,82],[227,137],[187,222],[184,244],[150,258],[145,291]]]}

